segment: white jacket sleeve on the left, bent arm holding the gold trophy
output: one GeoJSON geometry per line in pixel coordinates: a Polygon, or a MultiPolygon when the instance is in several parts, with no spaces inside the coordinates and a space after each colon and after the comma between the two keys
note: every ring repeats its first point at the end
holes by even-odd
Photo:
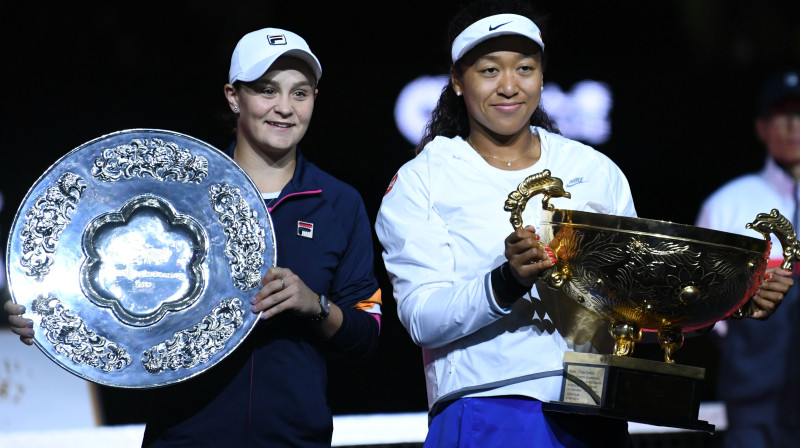
{"type": "Polygon", "coordinates": [[[375,224],[397,301],[397,314],[417,345],[440,347],[496,321],[509,311],[492,296],[489,272],[455,274],[447,224],[431,198],[425,152],[397,174],[375,224]]]}

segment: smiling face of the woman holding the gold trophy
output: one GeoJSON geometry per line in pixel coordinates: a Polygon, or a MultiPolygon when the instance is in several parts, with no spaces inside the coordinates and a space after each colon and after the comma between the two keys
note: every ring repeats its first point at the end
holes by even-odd
{"type": "Polygon", "coordinates": [[[464,97],[470,132],[505,140],[528,132],[542,96],[542,53],[522,36],[500,36],[470,50],[452,73],[464,97]]]}

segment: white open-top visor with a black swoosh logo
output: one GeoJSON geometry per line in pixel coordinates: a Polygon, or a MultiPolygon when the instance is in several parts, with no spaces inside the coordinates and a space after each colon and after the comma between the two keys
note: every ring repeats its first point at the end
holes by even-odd
{"type": "Polygon", "coordinates": [[[536,42],[544,51],[542,32],[533,21],[517,14],[498,14],[484,17],[468,26],[453,40],[452,56],[455,63],[479,43],[497,36],[518,34],[536,42]]]}

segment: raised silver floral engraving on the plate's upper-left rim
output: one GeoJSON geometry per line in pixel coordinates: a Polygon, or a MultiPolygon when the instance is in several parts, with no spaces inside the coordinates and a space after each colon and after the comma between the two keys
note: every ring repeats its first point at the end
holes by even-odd
{"type": "Polygon", "coordinates": [[[50,272],[61,232],[85,190],[80,176],[66,172],[25,213],[20,265],[27,275],[42,280],[50,272]]]}

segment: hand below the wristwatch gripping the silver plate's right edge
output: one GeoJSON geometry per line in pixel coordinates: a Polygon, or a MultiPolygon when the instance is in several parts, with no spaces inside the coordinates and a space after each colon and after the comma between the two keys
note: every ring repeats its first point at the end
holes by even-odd
{"type": "Polygon", "coordinates": [[[290,311],[299,316],[319,314],[319,296],[288,268],[274,267],[261,279],[261,289],[253,296],[254,313],[262,319],[290,311]]]}

